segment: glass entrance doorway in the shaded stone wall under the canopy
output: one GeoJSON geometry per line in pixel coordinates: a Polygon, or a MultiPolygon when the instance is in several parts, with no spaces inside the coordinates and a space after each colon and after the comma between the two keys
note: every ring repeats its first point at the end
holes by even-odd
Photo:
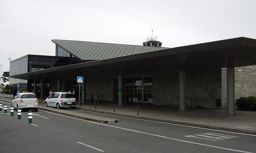
{"type": "MultiPolygon", "coordinates": [[[[152,78],[125,78],[125,96],[131,102],[152,103],[152,78]]],[[[126,100],[127,101],[127,100],[126,100]]]]}

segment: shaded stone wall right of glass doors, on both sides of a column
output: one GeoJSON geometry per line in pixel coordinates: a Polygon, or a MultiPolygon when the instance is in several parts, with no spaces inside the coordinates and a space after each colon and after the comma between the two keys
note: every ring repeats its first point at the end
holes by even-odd
{"type": "MultiPolygon", "coordinates": [[[[221,99],[221,70],[187,71],[186,96],[196,107],[216,108],[221,99]]],[[[179,73],[152,75],[152,104],[179,105],[179,73]]]]}

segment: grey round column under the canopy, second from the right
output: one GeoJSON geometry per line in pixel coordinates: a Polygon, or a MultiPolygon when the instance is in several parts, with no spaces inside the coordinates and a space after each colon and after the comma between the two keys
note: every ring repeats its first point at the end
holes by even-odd
{"type": "Polygon", "coordinates": [[[179,71],[179,112],[186,112],[186,71],[179,71]]]}

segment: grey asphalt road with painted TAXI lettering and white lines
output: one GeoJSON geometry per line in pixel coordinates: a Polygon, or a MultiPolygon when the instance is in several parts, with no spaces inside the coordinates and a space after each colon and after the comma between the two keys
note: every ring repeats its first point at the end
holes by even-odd
{"type": "MultiPolygon", "coordinates": [[[[2,104],[9,103],[2,102],[2,104]]],[[[8,109],[8,113],[10,113],[8,109]]],[[[89,115],[118,119],[95,123],[39,110],[22,119],[0,112],[1,153],[256,153],[256,136],[198,127],[109,116],[75,109],[89,115]]]]}

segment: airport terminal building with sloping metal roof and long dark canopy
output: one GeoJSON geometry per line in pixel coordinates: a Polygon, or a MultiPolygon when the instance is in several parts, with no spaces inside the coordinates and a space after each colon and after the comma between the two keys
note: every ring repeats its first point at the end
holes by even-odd
{"type": "Polygon", "coordinates": [[[77,76],[83,76],[82,102],[94,94],[119,105],[130,101],[179,105],[182,112],[186,99],[193,99],[196,107],[227,108],[228,116],[234,115],[235,99],[256,96],[254,39],[238,37],[176,48],[162,48],[160,42],[144,46],[52,42],[55,56],[26,55],[10,62],[10,77],[27,80],[21,90],[41,97],[48,96],[50,89],[78,91],[77,76]]]}

